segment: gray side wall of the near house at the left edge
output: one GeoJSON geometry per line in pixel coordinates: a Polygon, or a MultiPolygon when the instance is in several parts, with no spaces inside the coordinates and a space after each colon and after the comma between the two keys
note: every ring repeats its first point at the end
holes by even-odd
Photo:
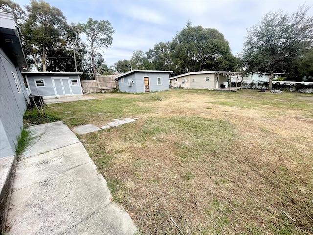
{"type": "Polygon", "coordinates": [[[23,129],[23,115],[27,108],[27,92],[20,70],[0,51],[0,158],[15,154],[17,138],[23,129]],[[15,84],[14,72],[18,77],[21,92],[15,84]]]}

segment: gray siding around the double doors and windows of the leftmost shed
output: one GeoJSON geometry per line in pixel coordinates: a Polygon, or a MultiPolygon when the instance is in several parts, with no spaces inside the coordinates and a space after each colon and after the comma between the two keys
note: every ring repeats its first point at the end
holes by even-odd
{"type": "Polygon", "coordinates": [[[81,88],[81,82],[78,75],[33,75],[27,74],[26,80],[30,88],[32,95],[42,95],[44,98],[53,98],[56,97],[56,92],[54,90],[52,78],[69,78],[69,79],[78,79],[78,86],[72,86],[70,80],[70,87],[72,89],[73,95],[83,94],[81,88]],[[45,87],[36,87],[35,80],[44,80],[45,87]]]}

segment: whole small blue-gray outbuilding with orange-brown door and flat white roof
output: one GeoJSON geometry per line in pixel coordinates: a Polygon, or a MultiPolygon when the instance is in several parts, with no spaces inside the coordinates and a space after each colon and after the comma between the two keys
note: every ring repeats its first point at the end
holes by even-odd
{"type": "Polygon", "coordinates": [[[131,70],[116,76],[119,90],[129,93],[169,90],[169,74],[173,71],[131,70]]]}

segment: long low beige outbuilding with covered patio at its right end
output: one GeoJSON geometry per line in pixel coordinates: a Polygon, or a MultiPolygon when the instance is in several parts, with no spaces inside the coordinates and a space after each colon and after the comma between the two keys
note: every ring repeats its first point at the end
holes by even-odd
{"type": "Polygon", "coordinates": [[[240,72],[201,71],[188,72],[170,77],[170,85],[179,88],[215,90],[227,88],[231,76],[242,76],[240,72]]]}

